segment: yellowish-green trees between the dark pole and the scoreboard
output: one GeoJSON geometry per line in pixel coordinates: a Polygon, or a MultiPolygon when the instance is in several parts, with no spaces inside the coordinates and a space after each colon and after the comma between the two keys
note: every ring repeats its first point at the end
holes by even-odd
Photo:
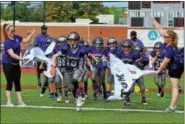
{"type": "Polygon", "coordinates": [[[46,2],[47,21],[75,22],[77,18],[89,18],[97,22],[96,16],[108,14],[102,2],[46,2]]]}

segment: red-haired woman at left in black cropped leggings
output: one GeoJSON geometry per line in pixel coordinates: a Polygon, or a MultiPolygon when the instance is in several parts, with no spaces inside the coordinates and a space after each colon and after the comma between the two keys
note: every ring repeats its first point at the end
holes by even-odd
{"type": "Polygon", "coordinates": [[[19,61],[23,60],[20,56],[21,43],[28,43],[33,36],[35,31],[31,31],[28,37],[23,38],[15,34],[14,26],[11,24],[3,25],[3,34],[5,37],[4,41],[4,53],[3,53],[3,71],[7,81],[6,84],[6,97],[7,97],[7,106],[14,106],[11,101],[11,92],[13,83],[15,86],[15,91],[18,98],[19,106],[26,106],[22,100],[21,96],[21,69],[19,61]]]}

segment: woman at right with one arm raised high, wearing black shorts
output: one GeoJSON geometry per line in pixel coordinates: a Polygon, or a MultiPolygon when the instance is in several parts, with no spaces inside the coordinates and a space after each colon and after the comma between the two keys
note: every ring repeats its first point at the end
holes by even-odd
{"type": "Polygon", "coordinates": [[[173,30],[166,30],[161,27],[161,25],[155,20],[151,15],[151,19],[155,28],[160,33],[161,37],[164,39],[164,60],[162,61],[157,74],[163,71],[166,67],[168,69],[168,75],[171,86],[172,99],[170,106],[165,110],[166,112],[175,112],[177,110],[178,97],[179,97],[179,82],[181,75],[184,72],[184,64],[180,64],[176,61],[176,51],[178,44],[177,33],[173,30]]]}

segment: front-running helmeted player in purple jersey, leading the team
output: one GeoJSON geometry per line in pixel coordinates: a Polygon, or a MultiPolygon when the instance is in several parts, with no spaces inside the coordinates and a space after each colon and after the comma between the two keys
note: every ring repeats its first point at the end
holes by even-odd
{"type": "Polygon", "coordinates": [[[52,69],[51,75],[56,73],[56,58],[65,55],[66,65],[65,65],[65,76],[64,82],[68,83],[68,87],[72,88],[72,93],[76,99],[76,107],[81,107],[84,102],[82,100],[82,94],[79,89],[79,82],[82,81],[85,71],[84,62],[85,56],[88,54],[86,48],[79,46],[80,34],[78,32],[70,32],[68,34],[68,40],[66,44],[61,46],[60,51],[52,57],[52,69]]]}

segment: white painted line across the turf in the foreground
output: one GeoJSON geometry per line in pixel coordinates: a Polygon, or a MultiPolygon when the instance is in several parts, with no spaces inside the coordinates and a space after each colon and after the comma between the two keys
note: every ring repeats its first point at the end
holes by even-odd
{"type": "MultiPolygon", "coordinates": [[[[1,105],[1,107],[8,107],[6,105],[1,105]]],[[[14,106],[17,108],[40,108],[40,109],[64,109],[64,110],[76,110],[76,107],[57,107],[57,106],[32,106],[28,105],[26,107],[14,106]]],[[[12,107],[9,107],[12,108],[12,107]]],[[[108,108],[86,108],[82,107],[81,110],[89,111],[124,111],[124,112],[153,112],[153,113],[166,113],[164,110],[146,110],[146,109],[108,109],[108,108]]],[[[183,114],[184,111],[177,111],[175,113],[183,114]]]]}

